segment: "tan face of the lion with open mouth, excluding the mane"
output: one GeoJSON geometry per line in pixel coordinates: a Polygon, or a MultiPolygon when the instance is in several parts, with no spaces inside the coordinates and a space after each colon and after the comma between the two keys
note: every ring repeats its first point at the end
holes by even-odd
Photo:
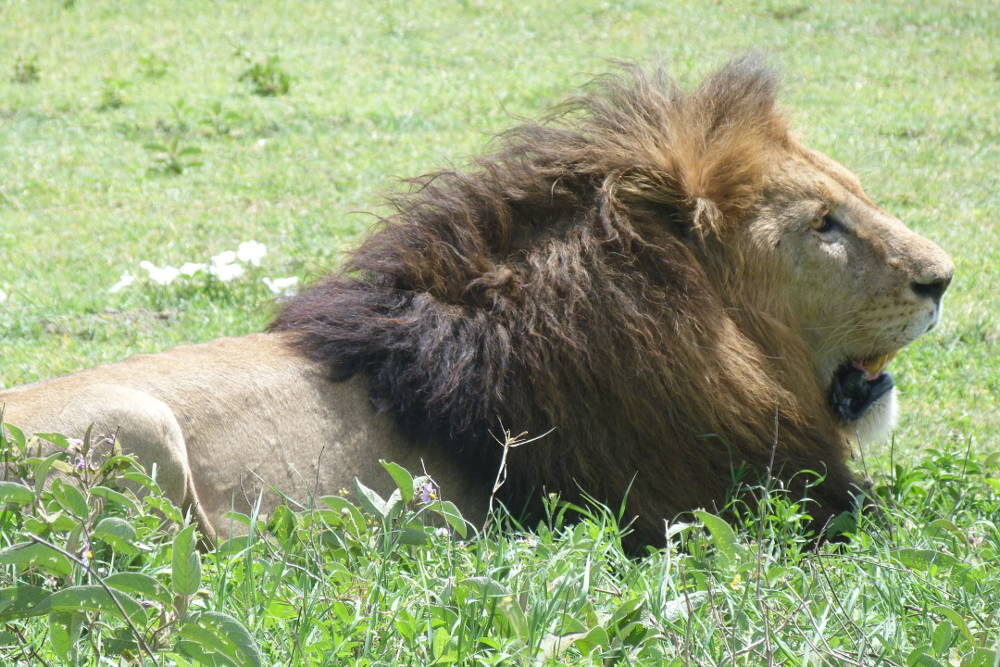
{"type": "Polygon", "coordinates": [[[789,319],[845,437],[884,440],[897,416],[885,368],[937,325],[954,266],[825,155],[795,146],[772,179],[775,196],[746,227],[752,261],[780,267],[789,319]]]}

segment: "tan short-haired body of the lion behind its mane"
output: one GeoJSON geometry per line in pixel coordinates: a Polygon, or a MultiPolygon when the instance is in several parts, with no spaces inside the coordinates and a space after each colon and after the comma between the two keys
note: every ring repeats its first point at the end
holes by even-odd
{"type": "Polygon", "coordinates": [[[487,494],[466,485],[431,446],[404,440],[377,414],[363,378],[330,382],[289,349],[287,337],[255,334],[176,347],[0,392],[5,421],[27,433],[117,434],[203,532],[229,532],[223,515],[247,512],[263,491],[306,504],[353,488],[385,493],[379,459],[447,479],[459,502],[482,513],[487,494]]]}

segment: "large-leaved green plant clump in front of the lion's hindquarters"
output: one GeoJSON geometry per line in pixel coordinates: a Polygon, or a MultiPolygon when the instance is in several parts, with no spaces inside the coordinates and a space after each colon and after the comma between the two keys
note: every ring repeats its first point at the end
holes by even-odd
{"type": "Polygon", "coordinates": [[[113,438],[39,438],[0,427],[0,453],[16,473],[0,482],[9,584],[0,623],[16,645],[8,658],[38,658],[22,628],[47,617],[48,646],[66,664],[94,653],[260,665],[246,628],[204,604],[195,527],[155,479],[113,438]]]}

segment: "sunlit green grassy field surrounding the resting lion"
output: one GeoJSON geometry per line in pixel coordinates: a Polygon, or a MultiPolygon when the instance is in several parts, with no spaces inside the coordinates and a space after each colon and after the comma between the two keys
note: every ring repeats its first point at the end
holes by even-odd
{"type": "MultiPolygon", "coordinates": [[[[609,59],[659,57],[691,84],[762,48],[806,143],[956,263],[942,325],[893,362],[895,446],[867,458],[891,530],[802,550],[779,494],[736,535],[705,518],[629,560],[600,511],[407,545],[405,512],[359,501],[374,528],[339,544],[293,517],[203,556],[192,608],[248,628],[264,664],[998,664],[997,43],[1000,6],[958,0],[0,2],[0,386],[260,330],[263,278],[321,275],[398,178],[465,163],[609,59]],[[140,268],[248,240],[267,255],[224,284],[140,268]]],[[[0,521],[6,546],[24,526],[0,521]]],[[[174,585],[173,529],[136,521],[142,572],[174,585]]],[[[6,613],[0,659],[113,653],[93,610],[78,654],[58,618],[6,613]]],[[[167,617],[163,664],[192,655],[167,617]]]]}

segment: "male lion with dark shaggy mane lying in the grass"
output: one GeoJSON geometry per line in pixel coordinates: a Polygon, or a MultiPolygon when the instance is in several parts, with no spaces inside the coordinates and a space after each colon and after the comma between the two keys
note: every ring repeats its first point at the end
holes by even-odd
{"type": "Polygon", "coordinates": [[[91,422],[156,462],[209,535],[241,489],[305,498],[378,458],[467,508],[541,490],[636,536],[772,474],[822,523],[850,509],[848,441],[895,415],[884,372],[938,321],[948,256],[789,135],[775,78],[735,60],[694,92],[628,68],[466,172],[417,179],[346,267],[270,334],[0,394],[8,421],[91,422]]]}

